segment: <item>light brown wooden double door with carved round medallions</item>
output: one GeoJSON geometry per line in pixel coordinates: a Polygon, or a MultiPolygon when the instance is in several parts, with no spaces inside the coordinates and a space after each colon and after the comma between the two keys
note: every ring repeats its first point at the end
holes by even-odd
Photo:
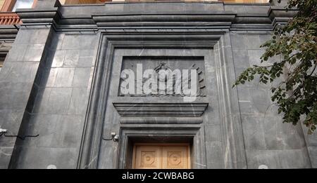
{"type": "Polygon", "coordinates": [[[189,144],[137,143],[133,147],[132,168],[189,169],[189,144]]]}

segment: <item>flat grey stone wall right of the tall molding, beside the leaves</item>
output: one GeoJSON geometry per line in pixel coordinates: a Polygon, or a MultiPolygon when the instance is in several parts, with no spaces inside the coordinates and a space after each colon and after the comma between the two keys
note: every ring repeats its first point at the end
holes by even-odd
{"type": "MultiPolygon", "coordinates": [[[[270,32],[230,32],[236,73],[246,67],[261,65],[261,43],[270,39],[270,32]]],[[[280,57],[274,57],[278,60],[280,57]]],[[[251,83],[238,86],[244,146],[248,168],[310,167],[309,154],[302,126],[282,123],[282,116],[271,102],[271,86],[251,83]]]]}

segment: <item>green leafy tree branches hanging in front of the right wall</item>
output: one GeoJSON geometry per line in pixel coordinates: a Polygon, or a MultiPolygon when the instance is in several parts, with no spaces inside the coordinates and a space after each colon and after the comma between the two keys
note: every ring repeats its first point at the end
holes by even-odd
{"type": "Polygon", "coordinates": [[[290,0],[287,11],[291,8],[297,8],[297,15],[261,46],[266,48],[261,63],[268,65],[247,68],[234,86],[256,75],[260,83],[271,83],[271,100],[278,105],[283,123],[296,125],[302,116],[311,134],[317,126],[317,0],[290,0]],[[280,61],[268,62],[276,55],[280,61]]]}

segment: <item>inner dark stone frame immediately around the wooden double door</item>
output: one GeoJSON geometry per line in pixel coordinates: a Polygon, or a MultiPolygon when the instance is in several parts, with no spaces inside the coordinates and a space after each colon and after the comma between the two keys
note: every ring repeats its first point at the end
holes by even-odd
{"type": "Polygon", "coordinates": [[[206,146],[204,125],[122,125],[116,168],[132,168],[133,144],[135,143],[184,143],[190,144],[190,164],[194,169],[205,169],[206,146]]]}

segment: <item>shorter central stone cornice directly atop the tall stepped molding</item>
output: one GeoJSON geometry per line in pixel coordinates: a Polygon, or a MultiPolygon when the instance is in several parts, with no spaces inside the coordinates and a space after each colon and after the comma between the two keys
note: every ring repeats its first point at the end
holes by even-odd
{"type": "Polygon", "coordinates": [[[209,14],[139,14],[139,15],[92,15],[99,29],[113,27],[218,27],[228,28],[235,14],[232,12],[209,14]]]}

